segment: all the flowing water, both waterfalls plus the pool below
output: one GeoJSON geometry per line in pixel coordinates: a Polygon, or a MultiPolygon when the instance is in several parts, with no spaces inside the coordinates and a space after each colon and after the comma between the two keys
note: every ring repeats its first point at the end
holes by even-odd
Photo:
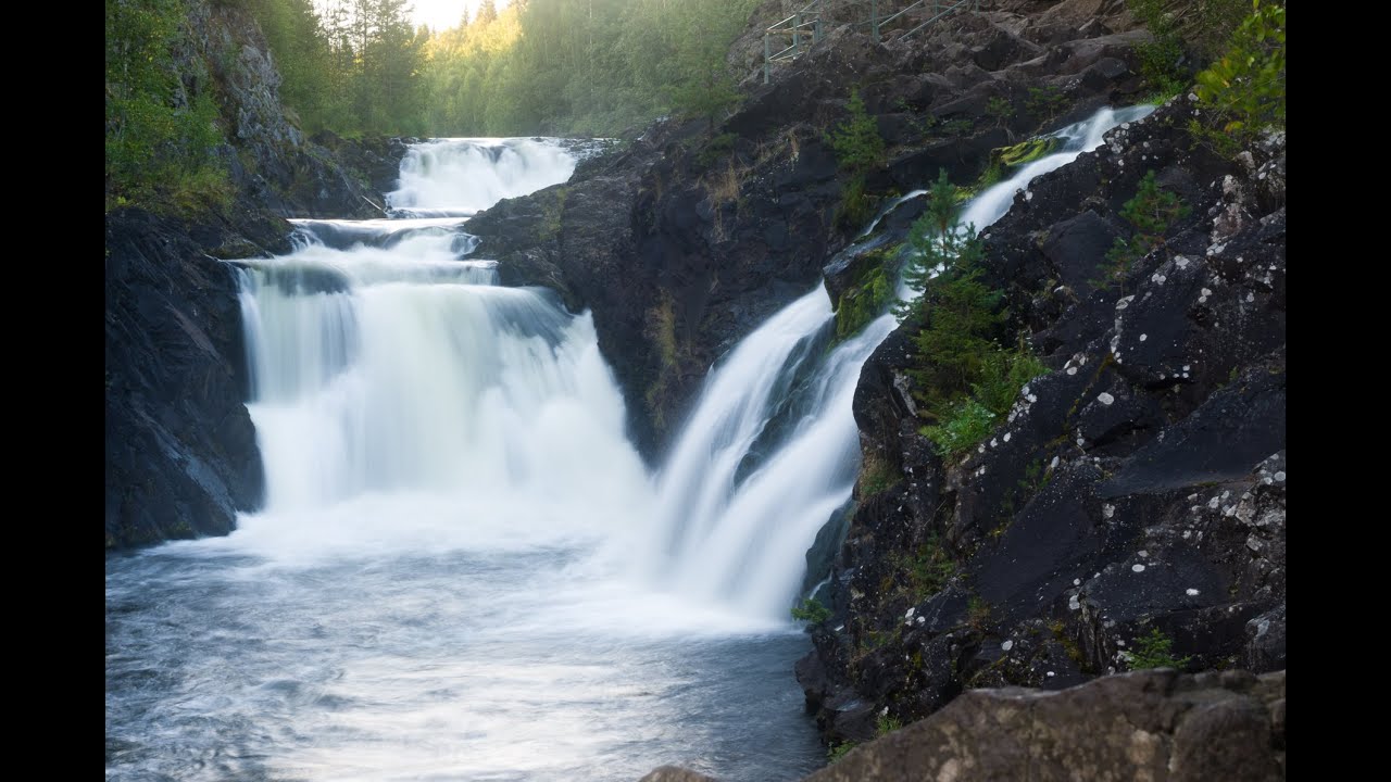
{"type": "MultiPolygon", "coordinates": [[[[1138,115],[1064,131],[972,209],[1138,115]]],[[[648,476],[588,314],[466,257],[467,214],[573,167],[541,139],[424,142],[395,218],[299,220],[292,255],[238,263],[268,498],[231,536],[108,558],[108,782],[825,761],[787,608],[894,319],[833,344],[818,285],[719,362],[648,476]]]]}

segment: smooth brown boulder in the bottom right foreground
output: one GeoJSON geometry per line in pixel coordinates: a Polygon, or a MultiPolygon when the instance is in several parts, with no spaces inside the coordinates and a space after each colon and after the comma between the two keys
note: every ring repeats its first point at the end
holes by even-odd
{"type": "Polygon", "coordinates": [[[1146,671],[1063,692],[971,690],[805,782],[1284,778],[1284,671],[1146,671]]]}

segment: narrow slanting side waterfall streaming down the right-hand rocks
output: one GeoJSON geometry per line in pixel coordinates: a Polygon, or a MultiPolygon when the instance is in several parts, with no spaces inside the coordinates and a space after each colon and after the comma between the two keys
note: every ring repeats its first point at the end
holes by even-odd
{"type": "MultiPolygon", "coordinates": [[[[1102,109],[1057,131],[1063,143],[1056,153],[972,199],[961,223],[983,230],[1035,177],[1096,149],[1106,131],[1150,111],[1102,109]]],[[[893,202],[861,237],[921,193],[893,202]]],[[[899,295],[915,294],[900,287],[899,295]]],[[[658,480],[658,527],[650,545],[665,554],[654,572],[673,589],[754,615],[786,616],[801,590],[803,555],[850,500],[858,472],[851,402],[860,369],[896,326],[893,316],[882,316],[826,353],[832,323],[830,296],[818,285],[744,338],[707,378],[658,480]],[[789,406],[789,395],[810,404],[789,406]],[[779,422],[785,431],[769,437],[779,422]],[[751,462],[757,466],[747,469],[751,462]]]]}

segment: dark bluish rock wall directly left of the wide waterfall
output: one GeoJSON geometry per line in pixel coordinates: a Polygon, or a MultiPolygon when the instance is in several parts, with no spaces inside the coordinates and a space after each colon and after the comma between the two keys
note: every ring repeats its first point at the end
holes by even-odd
{"type": "MultiPolygon", "coordinates": [[[[274,223],[262,228],[274,246],[274,223]]],[[[203,250],[252,241],[230,234],[107,216],[107,548],[227,534],[262,501],[234,270],[203,250]]]]}

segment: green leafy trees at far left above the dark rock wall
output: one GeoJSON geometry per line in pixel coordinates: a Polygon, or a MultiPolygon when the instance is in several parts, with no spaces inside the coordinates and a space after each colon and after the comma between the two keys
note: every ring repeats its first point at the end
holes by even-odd
{"type": "Polygon", "coordinates": [[[227,202],[217,102],[195,89],[206,74],[181,74],[174,58],[186,15],[184,0],[106,3],[106,209],[227,202]]]}

